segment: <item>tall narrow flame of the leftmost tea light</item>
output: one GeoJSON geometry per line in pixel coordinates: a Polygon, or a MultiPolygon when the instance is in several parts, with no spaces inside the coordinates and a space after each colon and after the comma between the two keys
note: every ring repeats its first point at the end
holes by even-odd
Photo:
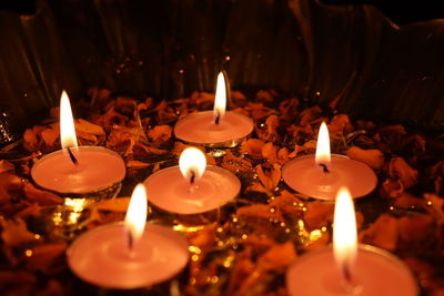
{"type": "Polygon", "coordinates": [[[62,149],[78,147],[71,103],[65,91],[60,98],[60,142],[62,149]]]}

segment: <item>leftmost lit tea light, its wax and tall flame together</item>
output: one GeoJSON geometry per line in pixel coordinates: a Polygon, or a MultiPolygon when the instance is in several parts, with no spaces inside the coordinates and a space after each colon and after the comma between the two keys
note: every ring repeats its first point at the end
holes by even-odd
{"type": "Polygon", "coordinates": [[[120,183],[125,165],[115,152],[101,146],[78,146],[71,105],[63,91],[60,100],[62,150],[40,159],[31,169],[34,182],[62,194],[98,192],[120,183]]]}

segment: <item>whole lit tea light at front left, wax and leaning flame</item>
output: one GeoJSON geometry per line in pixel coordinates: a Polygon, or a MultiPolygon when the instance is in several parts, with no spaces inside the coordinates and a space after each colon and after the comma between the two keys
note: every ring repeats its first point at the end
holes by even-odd
{"type": "Polygon", "coordinates": [[[145,188],[131,196],[124,223],[99,226],[79,236],[67,252],[71,271],[105,288],[149,287],[179,274],[189,261],[183,236],[160,225],[148,225],[145,188]]]}

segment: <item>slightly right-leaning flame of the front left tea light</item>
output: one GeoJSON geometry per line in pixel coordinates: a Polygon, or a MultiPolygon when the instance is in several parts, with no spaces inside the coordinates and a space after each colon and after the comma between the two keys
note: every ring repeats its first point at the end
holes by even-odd
{"type": "Polygon", "coordinates": [[[129,246],[140,239],[147,223],[147,192],[145,186],[139,183],[132,192],[130,204],[124,220],[127,233],[129,234],[129,246]]]}

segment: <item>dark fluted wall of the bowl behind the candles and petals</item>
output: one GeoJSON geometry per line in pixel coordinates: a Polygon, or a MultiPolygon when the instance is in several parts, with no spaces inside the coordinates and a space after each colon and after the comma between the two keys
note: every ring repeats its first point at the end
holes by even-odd
{"type": "Polygon", "coordinates": [[[341,95],[354,119],[444,130],[438,2],[0,1],[0,111],[26,125],[63,89],[73,101],[91,86],[140,99],[211,92],[223,69],[234,89],[312,104],[341,95]]]}

